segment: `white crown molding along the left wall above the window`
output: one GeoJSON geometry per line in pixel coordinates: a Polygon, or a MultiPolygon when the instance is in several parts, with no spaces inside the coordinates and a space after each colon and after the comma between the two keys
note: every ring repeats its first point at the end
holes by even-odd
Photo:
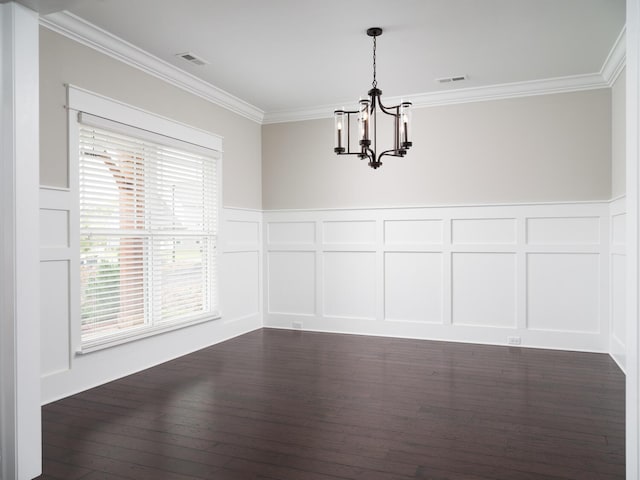
{"type": "Polygon", "coordinates": [[[64,11],[40,17],[40,25],[254,122],[263,121],[264,111],[254,105],[200,80],[72,13],[64,11]]]}

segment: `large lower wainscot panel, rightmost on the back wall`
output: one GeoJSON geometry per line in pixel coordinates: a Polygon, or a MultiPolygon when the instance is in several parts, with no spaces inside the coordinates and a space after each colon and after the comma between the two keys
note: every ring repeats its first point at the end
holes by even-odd
{"type": "Polygon", "coordinates": [[[531,253],[527,258],[527,326],[532,330],[600,330],[600,265],[593,253],[531,253]]]}

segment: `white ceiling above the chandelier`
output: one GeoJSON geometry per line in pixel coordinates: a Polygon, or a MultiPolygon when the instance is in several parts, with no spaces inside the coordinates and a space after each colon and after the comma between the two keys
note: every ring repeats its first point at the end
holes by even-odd
{"type": "Polygon", "coordinates": [[[625,23],[624,0],[22,3],[42,16],[67,10],[267,114],[355,105],[372,81],[368,27],[384,29],[384,98],[599,75],[625,23]],[[468,79],[435,81],[456,75],[468,79]]]}

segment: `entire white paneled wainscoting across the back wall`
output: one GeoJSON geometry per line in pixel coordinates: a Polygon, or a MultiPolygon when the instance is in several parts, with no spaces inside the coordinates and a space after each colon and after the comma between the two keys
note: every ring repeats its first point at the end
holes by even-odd
{"type": "Polygon", "coordinates": [[[609,207],[266,211],[265,326],[609,351],[609,207]]]}

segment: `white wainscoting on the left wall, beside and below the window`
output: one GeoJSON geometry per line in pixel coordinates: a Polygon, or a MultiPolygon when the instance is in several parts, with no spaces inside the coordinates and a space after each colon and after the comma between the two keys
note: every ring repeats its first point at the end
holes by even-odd
{"type": "MultiPolygon", "coordinates": [[[[63,398],[262,327],[262,212],[225,208],[219,237],[222,318],[79,355],[70,289],[79,269],[68,190],[41,188],[42,402],[63,398]],[[66,233],[66,237],[65,237],[66,233]],[[66,238],[66,241],[65,241],[66,238]]],[[[79,248],[79,247],[78,247],[79,248]]]]}

